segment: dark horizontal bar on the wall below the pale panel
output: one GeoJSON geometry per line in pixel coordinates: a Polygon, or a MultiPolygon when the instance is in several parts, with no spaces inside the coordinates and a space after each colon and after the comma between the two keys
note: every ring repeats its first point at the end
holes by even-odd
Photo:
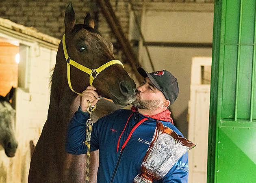
{"type": "Polygon", "coordinates": [[[165,46],[165,47],[208,47],[212,48],[213,43],[174,43],[174,42],[145,42],[146,46],[165,46]]]}

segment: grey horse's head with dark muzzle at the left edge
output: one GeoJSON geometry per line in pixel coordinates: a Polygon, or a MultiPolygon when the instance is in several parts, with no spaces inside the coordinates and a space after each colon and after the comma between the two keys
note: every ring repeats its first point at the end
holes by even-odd
{"type": "Polygon", "coordinates": [[[13,128],[15,110],[10,103],[13,93],[14,88],[12,87],[5,97],[0,95],[0,145],[2,145],[8,157],[15,156],[18,146],[13,128]]]}

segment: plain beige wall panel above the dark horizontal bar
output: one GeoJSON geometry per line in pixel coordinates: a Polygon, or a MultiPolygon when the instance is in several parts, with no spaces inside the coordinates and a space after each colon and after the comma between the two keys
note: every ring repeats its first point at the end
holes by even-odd
{"type": "Polygon", "coordinates": [[[147,11],[144,25],[143,34],[146,41],[213,41],[213,12],[147,11]]]}

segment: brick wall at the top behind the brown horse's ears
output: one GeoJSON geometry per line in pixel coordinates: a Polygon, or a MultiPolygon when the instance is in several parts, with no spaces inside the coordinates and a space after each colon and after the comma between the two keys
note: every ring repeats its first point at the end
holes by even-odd
{"type": "MultiPolygon", "coordinates": [[[[33,26],[39,32],[61,39],[65,26],[65,8],[72,2],[77,23],[82,23],[85,15],[91,13],[96,19],[96,26],[106,39],[115,43],[104,16],[96,0],[0,0],[0,17],[17,24],[33,26]],[[98,12],[98,13],[97,13],[98,12]],[[97,21],[98,19],[98,21],[97,21]]],[[[214,0],[132,0],[132,2],[214,2],[214,0]]],[[[110,0],[119,18],[124,32],[128,34],[129,6],[128,0],[110,0]]]]}

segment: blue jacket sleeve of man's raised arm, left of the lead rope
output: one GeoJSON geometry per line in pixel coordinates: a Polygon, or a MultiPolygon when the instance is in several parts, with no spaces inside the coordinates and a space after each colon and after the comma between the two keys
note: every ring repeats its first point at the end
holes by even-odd
{"type": "Polygon", "coordinates": [[[67,127],[65,151],[72,155],[87,153],[85,142],[86,121],[89,119],[89,113],[83,112],[81,107],[74,113],[67,127]]]}

